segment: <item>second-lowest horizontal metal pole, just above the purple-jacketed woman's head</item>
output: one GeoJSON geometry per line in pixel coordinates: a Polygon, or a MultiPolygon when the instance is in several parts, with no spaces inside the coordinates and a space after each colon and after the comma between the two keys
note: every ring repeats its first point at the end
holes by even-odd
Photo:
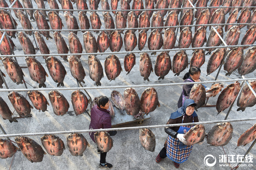
{"type": "Polygon", "coordinates": [[[244,81],[244,80],[256,80],[255,78],[240,78],[240,79],[229,79],[229,80],[211,80],[211,81],[203,81],[203,82],[187,82],[187,83],[166,83],[166,84],[154,84],[154,85],[120,85],[120,86],[98,86],[98,87],[63,87],[63,88],[30,88],[30,89],[0,89],[0,92],[8,92],[8,91],[16,91],[16,92],[24,92],[24,91],[50,91],[50,90],[99,90],[99,89],[116,89],[116,88],[139,88],[139,87],[160,87],[160,86],[170,86],[170,85],[191,85],[191,84],[206,84],[206,83],[220,83],[220,82],[236,82],[236,81],[244,81]]]}

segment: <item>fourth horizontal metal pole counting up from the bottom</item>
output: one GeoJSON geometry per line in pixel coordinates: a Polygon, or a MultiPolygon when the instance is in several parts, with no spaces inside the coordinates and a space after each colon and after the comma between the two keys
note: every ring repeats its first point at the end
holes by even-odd
{"type": "Polygon", "coordinates": [[[0,31],[115,31],[115,30],[134,30],[134,29],[159,29],[159,28],[179,28],[179,27],[192,27],[192,26],[227,26],[227,25],[256,25],[249,23],[233,23],[233,24],[198,24],[186,26],[157,26],[157,27],[137,27],[137,28],[112,28],[112,29],[0,29],[0,31]]]}

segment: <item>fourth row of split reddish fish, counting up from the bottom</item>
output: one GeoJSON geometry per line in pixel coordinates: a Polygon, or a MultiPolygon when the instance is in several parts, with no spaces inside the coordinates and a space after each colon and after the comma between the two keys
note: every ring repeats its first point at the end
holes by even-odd
{"type": "MultiPolygon", "coordinates": [[[[240,25],[241,26],[241,25],[240,25]]],[[[208,39],[206,38],[206,27],[199,27],[195,33],[192,35],[191,28],[184,27],[181,30],[179,40],[178,40],[178,48],[189,48],[192,45],[192,48],[203,47],[206,43],[206,47],[216,47],[222,44],[222,41],[219,35],[215,32],[215,30],[219,33],[219,35],[223,38],[223,28],[221,26],[215,26],[214,29],[211,28],[208,39]]],[[[39,31],[40,32],[40,31],[39,31]]],[[[35,37],[37,40],[37,44],[41,54],[50,54],[50,50],[46,45],[44,38],[39,32],[35,32],[35,37]]],[[[26,33],[26,32],[25,32],[26,33]]],[[[49,33],[49,32],[46,32],[49,33]]],[[[175,28],[167,28],[164,30],[164,35],[161,34],[161,29],[154,29],[151,31],[149,36],[147,37],[147,32],[145,30],[141,30],[138,34],[138,38],[133,30],[127,30],[124,34],[124,38],[118,30],[113,32],[110,31],[110,35],[108,35],[107,31],[101,31],[99,33],[97,40],[94,35],[86,31],[83,34],[83,46],[86,53],[97,53],[105,52],[108,48],[112,52],[119,52],[122,49],[124,44],[125,51],[133,51],[137,46],[141,51],[144,49],[146,43],[149,50],[163,50],[173,49],[176,43],[176,34],[175,28]]],[[[240,38],[240,28],[239,26],[232,26],[229,28],[228,33],[225,37],[225,42],[227,45],[238,45],[238,41],[240,38]]],[[[2,37],[3,32],[0,32],[0,36],[2,37]]],[[[36,54],[36,50],[32,41],[29,37],[23,32],[18,33],[18,39],[23,49],[24,54],[36,54]]],[[[46,38],[47,39],[47,38],[46,38]]],[[[57,47],[57,53],[59,54],[67,54],[70,53],[82,53],[83,47],[80,42],[78,36],[73,32],[68,34],[68,45],[66,44],[62,34],[59,32],[54,32],[55,44],[57,47]]],[[[241,45],[253,44],[256,41],[256,26],[251,26],[244,37],[242,38],[241,45]]],[[[17,44],[16,44],[17,45],[17,44]]],[[[11,55],[13,53],[14,47],[16,46],[10,38],[5,37],[3,42],[0,44],[0,54],[1,55],[11,55]],[[10,43],[9,43],[10,42],[10,43]]],[[[244,46],[246,49],[249,46],[244,46]]],[[[207,48],[206,51],[213,51],[215,48],[207,48]]],[[[232,49],[232,48],[231,48],[232,49]]],[[[151,53],[151,55],[155,55],[156,52],[151,53]]],[[[44,56],[46,58],[47,56],[44,56]]],[[[67,60],[66,56],[61,56],[64,60],[67,60]]],[[[81,57],[78,55],[77,57],[81,57]]]]}

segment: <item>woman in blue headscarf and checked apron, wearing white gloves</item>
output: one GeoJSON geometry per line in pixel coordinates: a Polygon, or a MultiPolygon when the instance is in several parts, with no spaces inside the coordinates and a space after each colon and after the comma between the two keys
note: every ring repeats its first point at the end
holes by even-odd
{"type": "MultiPolygon", "coordinates": [[[[194,111],[196,103],[192,99],[185,100],[182,107],[171,114],[167,124],[192,123],[198,122],[198,117],[194,111]]],[[[192,151],[193,145],[187,146],[184,134],[193,126],[165,127],[168,138],[165,141],[165,147],[157,155],[155,161],[158,163],[168,156],[174,161],[176,168],[180,163],[186,161],[192,151]]]]}

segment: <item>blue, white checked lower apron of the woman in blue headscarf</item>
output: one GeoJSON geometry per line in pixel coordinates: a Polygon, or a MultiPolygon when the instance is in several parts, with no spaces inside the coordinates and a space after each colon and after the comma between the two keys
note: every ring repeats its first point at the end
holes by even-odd
{"type": "Polygon", "coordinates": [[[181,149],[179,147],[181,143],[182,142],[180,142],[179,139],[168,135],[166,155],[176,163],[183,163],[184,161],[187,161],[193,148],[193,145],[191,145],[181,149]]]}

